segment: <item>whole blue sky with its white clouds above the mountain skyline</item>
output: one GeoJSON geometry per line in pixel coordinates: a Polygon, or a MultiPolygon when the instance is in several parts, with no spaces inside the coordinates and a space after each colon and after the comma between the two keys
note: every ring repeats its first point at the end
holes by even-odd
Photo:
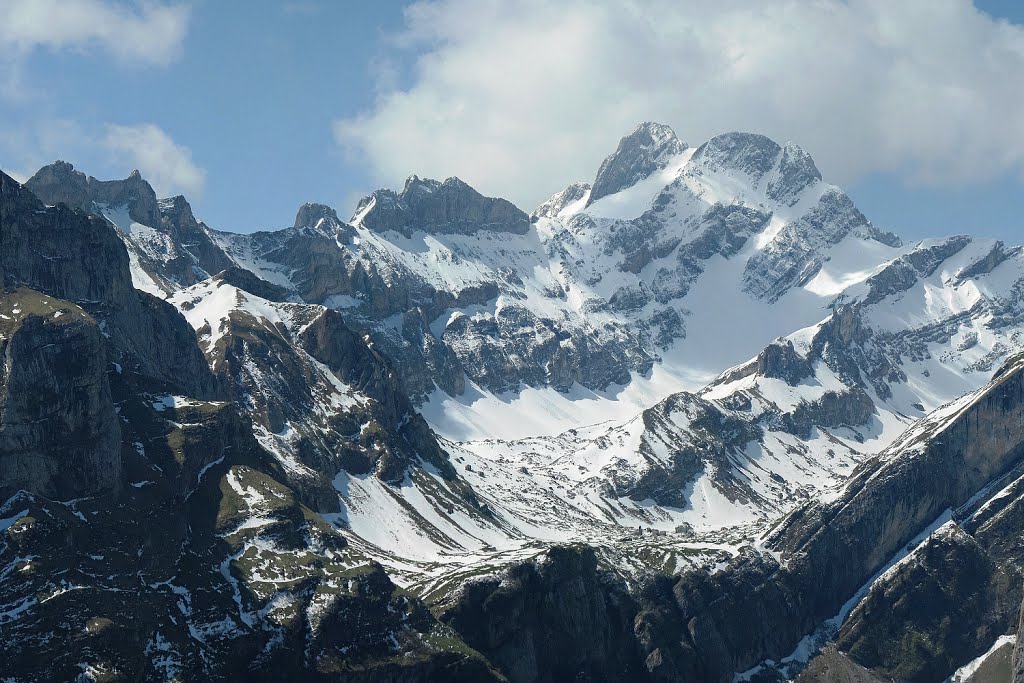
{"type": "Polygon", "coordinates": [[[1024,242],[1021,3],[622,4],[0,0],[0,168],[139,167],[247,231],[412,173],[528,210],[652,119],[797,141],[907,239],[1024,242]]]}

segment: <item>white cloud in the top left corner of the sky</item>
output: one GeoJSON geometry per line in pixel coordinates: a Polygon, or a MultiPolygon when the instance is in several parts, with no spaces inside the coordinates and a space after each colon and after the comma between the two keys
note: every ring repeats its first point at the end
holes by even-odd
{"type": "Polygon", "coordinates": [[[185,5],[111,0],[0,0],[0,49],[100,47],[124,61],[166,65],[181,51],[185,5]]]}

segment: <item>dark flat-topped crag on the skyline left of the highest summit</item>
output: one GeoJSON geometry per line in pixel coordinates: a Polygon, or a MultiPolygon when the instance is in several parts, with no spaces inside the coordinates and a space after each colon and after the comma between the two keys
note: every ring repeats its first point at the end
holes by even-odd
{"type": "Polygon", "coordinates": [[[459,178],[444,182],[411,176],[400,194],[377,190],[359,202],[356,215],[372,230],[472,234],[478,230],[522,234],[529,216],[502,199],[483,197],[459,178]]]}

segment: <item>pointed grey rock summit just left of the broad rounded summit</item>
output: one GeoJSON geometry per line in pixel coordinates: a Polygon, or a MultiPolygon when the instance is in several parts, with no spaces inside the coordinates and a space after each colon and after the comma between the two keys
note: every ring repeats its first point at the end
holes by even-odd
{"type": "Polygon", "coordinates": [[[588,206],[662,170],[672,157],[681,154],[686,147],[686,143],[669,126],[650,121],[641,123],[632,133],[622,138],[614,153],[601,163],[588,206]]]}

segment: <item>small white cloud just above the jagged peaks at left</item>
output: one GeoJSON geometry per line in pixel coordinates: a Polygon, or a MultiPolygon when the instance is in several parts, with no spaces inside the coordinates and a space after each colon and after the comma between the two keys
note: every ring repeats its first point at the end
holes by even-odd
{"type": "Polygon", "coordinates": [[[202,195],[206,171],[193,162],[191,151],[171,139],[159,126],[106,126],[98,140],[114,161],[137,168],[160,197],[202,195]]]}

